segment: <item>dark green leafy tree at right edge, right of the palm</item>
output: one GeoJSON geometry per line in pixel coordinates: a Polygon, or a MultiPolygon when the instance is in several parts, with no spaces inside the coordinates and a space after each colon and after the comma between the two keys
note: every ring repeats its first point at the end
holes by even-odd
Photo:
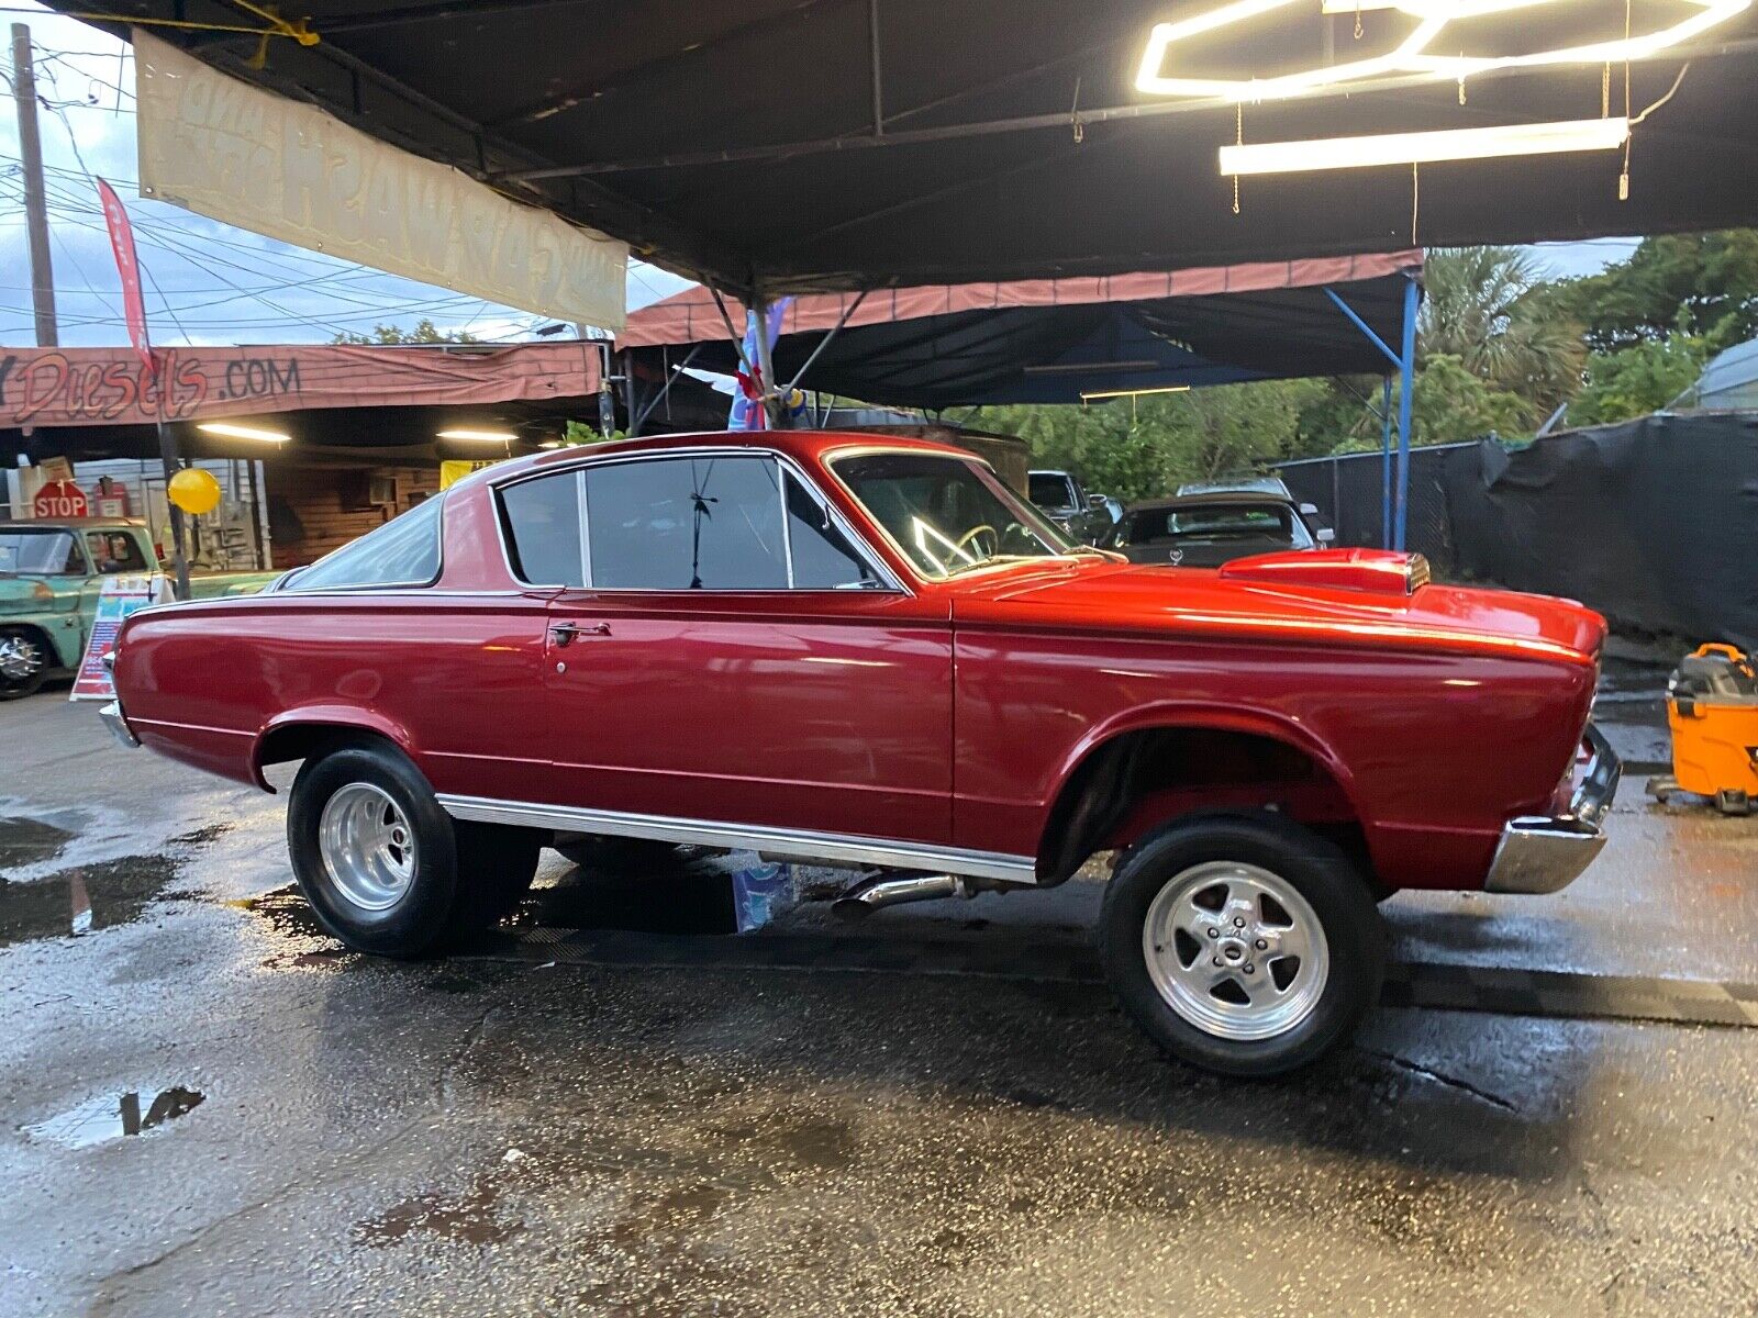
{"type": "Polygon", "coordinates": [[[1758,228],[1645,237],[1626,260],[1556,292],[1598,351],[1702,336],[1712,357],[1758,337],[1758,228]]]}

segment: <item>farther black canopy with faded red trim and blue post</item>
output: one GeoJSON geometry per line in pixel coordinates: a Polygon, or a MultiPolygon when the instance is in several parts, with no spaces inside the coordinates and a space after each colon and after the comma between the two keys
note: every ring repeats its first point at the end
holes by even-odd
{"type": "MultiPolygon", "coordinates": [[[[1403,545],[1410,418],[1392,482],[1391,374],[1410,397],[1422,253],[1387,251],[1104,278],[939,285],[788,299],[774,388],[905,408],[1083,402],[1248,380],[1378,373],[1382,543],[1403,545]],[[1394,350],[1391,344],[1401,344],[1394,350]]],[[[619,344],[640,427],[679,369],[731,374],[745,308],[687,288],[629,316],[619,344]]]]}

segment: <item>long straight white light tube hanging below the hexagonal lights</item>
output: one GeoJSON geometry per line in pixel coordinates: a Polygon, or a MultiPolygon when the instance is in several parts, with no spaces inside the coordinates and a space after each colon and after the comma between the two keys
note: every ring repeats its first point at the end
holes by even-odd
{"type": "Polygon", "coordinates": [[[1566,119],[1501,128],[1449,128],[1431,134],[1318,137],[1304,142],[1250,142],[1220,149],[1222,174],[1296,174],[1320,169],[1412,165],[1429,160],[1489,160],[1561,151],[1612,151],[1630,137],[1630,119],[1566,119]]]}

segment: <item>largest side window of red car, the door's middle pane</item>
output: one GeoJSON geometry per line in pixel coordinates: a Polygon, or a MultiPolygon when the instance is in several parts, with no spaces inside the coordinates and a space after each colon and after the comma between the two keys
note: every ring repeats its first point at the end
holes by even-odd
{"type": "Polygon", "coordinates": [[[628,590],[786,590],[781,466],[668,457],[585,473],[591,582],[628,590]]]}

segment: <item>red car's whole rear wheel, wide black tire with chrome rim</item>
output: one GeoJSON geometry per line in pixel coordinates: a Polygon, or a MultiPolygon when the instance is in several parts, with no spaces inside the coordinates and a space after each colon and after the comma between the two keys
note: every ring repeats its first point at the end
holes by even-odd
{"type": "Polygon", "coordinates": [[[422,956],[494,923],[538,865],[536,835],[454,824],[408,757],[376,743],[304,763],[287,840],[323,928],[380,956],[422,956]]]}

